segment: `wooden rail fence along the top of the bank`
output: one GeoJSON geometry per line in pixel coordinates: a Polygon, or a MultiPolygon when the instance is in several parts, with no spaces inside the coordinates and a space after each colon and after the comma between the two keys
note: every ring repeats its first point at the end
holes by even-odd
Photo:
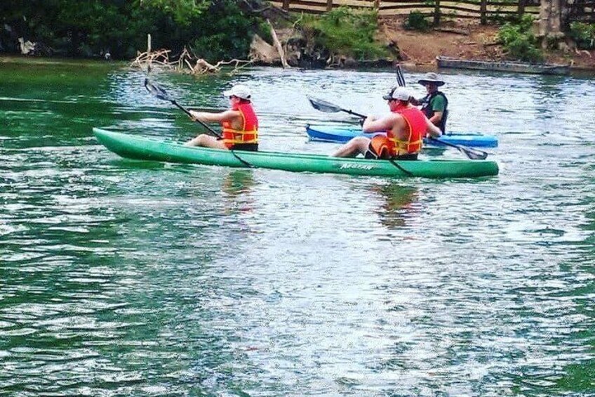
{"type": "Polygon", "coordinates": [[[490,19],[540,12],[540,0],[275,0],[271,3],[286,11],[304,13],[325,13],[341,6],[375,10],[379,15],[409,15],[411,11],[419,11],[434,18],[436,25],[442,17],[476,18],[485,24],[490,19]]]}

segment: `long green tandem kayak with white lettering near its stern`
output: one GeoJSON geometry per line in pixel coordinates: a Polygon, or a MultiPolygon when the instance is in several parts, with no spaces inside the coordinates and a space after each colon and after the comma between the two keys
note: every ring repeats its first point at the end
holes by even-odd
{"type": "Polygon", "coordinates": [[[231,152],[192,148],[179,143],[121,134],[94,128],[98,141],[112,152],[129,159],[158,162],[282,169],[369,176],[421,176],[424,178],[464,178],[498,174],[498,164],[488,160],[397,161],[337,158],[323,155],[281,152],[231,152]],[[241,157],[240,161],[234,153],[241,157]]]}

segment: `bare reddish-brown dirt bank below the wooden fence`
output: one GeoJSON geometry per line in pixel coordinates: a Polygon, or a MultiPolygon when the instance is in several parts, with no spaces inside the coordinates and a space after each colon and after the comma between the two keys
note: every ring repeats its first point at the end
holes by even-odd
{"type": "MultiPolygon", "coordinates": [[[[479,22],[451,20],[430,32],[403,29],[402,18],[382,18],[380,38],[398,46],[403,63],[422,67],[436,67],[436,56],[450,56],[469,60],[505,60],[502,47],[496,44],[498,27],[479,25],[479,22]]],[[[575,69],[595,70],[595,51],[550,51],[547,63],[573,65],[575,69]]]]}

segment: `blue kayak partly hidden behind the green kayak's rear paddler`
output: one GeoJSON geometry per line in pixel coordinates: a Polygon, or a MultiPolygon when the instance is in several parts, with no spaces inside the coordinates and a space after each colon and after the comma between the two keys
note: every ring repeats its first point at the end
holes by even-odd
{"type": "MultiPolygon", "coordinates": [[[[345,124],[329,125],[307,125],[306,132],[310,141],[338,142],[345,143],[356,136],[372,137],[382,132],[364,134],[359,127],[346,126],[345,124]]],[[[498,138],[493,135],[482,135],[477,133],[459,133],[445,134],[440,137],[441,141],[452,143],[453,145],[472,146],[474,148],[495,148],[498,145],[498,138]]],[[[432,145],[440,145],[432,141],[432,145]]]]}

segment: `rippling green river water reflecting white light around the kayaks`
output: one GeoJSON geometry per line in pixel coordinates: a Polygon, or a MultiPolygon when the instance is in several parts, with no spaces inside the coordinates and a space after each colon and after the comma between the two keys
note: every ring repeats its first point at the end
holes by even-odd
{"type": "MultiPolygon", "coordinates": [[[[500,175],[436,181],[121,159],[93,126],[202,131],[144,77],[0,63],[0,393],[595,395],[592,78],[444,73],[450,129],[496,135],[500,175]]],[[[354,120],[306,94],[380,114],[396,82],[152,79],[195,108],[248,84],[262,149],[317,153],[307,122],[354,120]]]]}

